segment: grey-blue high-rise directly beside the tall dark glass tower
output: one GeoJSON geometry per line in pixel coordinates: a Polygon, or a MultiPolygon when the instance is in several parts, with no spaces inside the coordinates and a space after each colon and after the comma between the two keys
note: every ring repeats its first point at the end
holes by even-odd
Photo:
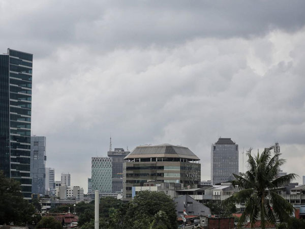
{"type": "Polygon", "coordinates": [[[31,137],[32,193],[44,194],[46,185],[46,137],[31,137]]]}

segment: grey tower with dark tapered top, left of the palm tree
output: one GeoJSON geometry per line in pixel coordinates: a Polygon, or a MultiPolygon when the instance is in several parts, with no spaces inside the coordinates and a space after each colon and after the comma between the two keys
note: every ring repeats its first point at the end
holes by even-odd
{"type": "Polygon", "coordinates": [[[231,138],[219,138],[211,146],[212,185],[234,180],[238,174],[238,145],[231,138]]]}

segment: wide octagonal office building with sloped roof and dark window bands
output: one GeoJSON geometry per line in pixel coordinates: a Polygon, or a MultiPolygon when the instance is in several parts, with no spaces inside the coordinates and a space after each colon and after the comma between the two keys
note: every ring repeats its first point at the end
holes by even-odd
{"type": "Polygon", "coordinates": [[[155,183],[197,187],[201,177],[199,160],[187,147],[170,144],[136,147],[125,157],[123,198],[130,200],[137,187],[155,183]]]}

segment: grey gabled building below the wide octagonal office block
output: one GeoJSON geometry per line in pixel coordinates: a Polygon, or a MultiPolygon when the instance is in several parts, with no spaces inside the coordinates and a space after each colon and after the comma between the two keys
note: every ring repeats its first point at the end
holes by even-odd
{"type": "Polygon", "coordinates": [[[176,214],[177,216],[184,215],[184,211],[188,215],[211,215],[211,211],[208,207],[199,203],[189,195],[181,195],[174,199],[176,203],[176,214]]]}

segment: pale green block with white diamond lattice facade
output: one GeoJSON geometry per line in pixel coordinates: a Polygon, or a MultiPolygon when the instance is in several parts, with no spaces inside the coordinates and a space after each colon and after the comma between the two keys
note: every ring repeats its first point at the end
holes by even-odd
{"type": "Polygon", "coordinates": [[[91,161],[92,189],[100,193],[112,192],[112,158],[92,157],[91,161]]]}

